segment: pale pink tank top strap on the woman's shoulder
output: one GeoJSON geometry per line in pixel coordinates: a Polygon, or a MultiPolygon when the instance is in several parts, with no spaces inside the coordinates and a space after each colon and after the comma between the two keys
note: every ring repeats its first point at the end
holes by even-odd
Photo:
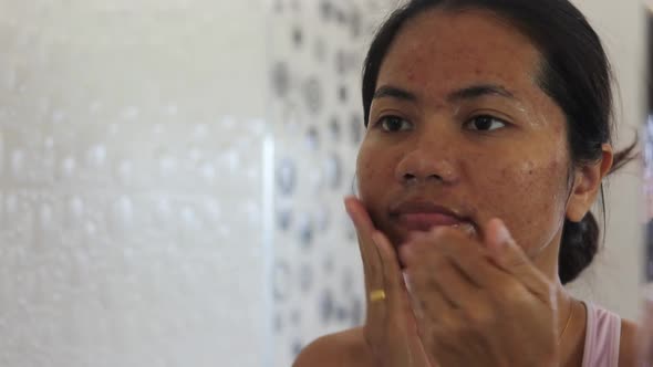
{"type": "Polygon", "coordinates": [[[621,317],[585,303],[588,326],[582,367],[618,367],[621,317]]]}

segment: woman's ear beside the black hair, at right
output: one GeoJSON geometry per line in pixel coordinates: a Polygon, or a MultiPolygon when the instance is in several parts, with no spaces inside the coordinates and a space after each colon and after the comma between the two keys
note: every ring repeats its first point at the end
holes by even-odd
{"type": "Polygon", "coordinates": [[[580,222],[588,213],[597,199],[603,177],[612,168],[614,158],[612,146],[603,144],[601,149],[602,155],[599,161],[576,169],[571,196],[567,203],[567,219],[572,222],[580,222]]]}

